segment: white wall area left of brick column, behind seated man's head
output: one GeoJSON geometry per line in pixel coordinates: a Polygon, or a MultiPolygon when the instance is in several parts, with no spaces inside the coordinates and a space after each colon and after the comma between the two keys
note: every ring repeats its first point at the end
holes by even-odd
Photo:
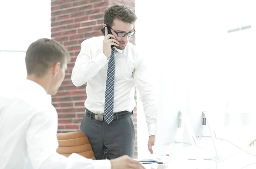
{"type": "Polygon", "coordinates": [[[0,1],[0,93],[26,79],[25,52],[39,38],[51,37],[47,0],[0,1]]]}

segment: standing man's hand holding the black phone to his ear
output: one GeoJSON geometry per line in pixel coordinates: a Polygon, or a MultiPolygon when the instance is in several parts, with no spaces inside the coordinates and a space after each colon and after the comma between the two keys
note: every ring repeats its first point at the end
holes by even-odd
{"type": "Polygon", "coordinates": [[[116,40],[116,37],[113,34],[108,34],[108,28],[105,26],[105,36],[103,40],[103,53],[107,56],[107,58],[110,57],[111,54],[111,46],[119,46],[119,42],[116,40]]]}

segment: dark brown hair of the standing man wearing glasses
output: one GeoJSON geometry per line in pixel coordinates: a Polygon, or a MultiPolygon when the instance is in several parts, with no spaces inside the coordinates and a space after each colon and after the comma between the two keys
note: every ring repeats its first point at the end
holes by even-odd
{"type": "Polygon", "coordinates": [[[135,23],[137,20],[136,14],[128,9],[125,5],[109,6],[104,11],[104,23],[112,26],[113,20],[119,19],[127,23],[135,23]]]}

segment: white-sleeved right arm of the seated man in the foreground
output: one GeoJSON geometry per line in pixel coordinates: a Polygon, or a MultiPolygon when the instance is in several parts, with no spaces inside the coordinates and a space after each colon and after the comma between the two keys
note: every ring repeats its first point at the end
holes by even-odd
{"type": "Polygon", "coordinates": [[[57,128],[57,112],[53,107],[32,117],[26,141],[34,169],[111,169],[110,160],[91,160],[78,154],[67,158],[58,154],[57,128]]]}

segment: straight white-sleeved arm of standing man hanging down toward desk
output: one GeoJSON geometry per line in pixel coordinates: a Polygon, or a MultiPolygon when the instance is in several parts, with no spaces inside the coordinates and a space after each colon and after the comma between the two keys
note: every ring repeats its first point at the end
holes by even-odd
{"type": "Polygon", "coordinates": [[[156,101],[153,87],[148,78],[148,72],[142,57],[137,55],[136,66],[134,70],[134,79],[140,92],[140,100],[143,103],[143,109],[148,125],[149,136],[155,135],[155,125],[157,117],[156,101]]]}

